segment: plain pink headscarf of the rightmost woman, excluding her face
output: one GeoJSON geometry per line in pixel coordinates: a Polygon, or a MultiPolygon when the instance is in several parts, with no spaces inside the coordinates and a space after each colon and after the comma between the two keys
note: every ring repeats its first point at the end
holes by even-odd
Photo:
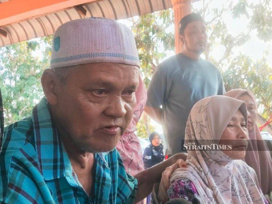
{"type": "MultiPolygon", "coordinates": [[[[244,93],[247,93],[253,99],[257,110],[255,96],[249,90],[232,89],[224,95],[238,99],[244,93]]],[[[272,191],[272,159],[265,142],[261,141],[263,138],[256,123],[248,134],[251,141],[249,141],[244,161],[255,170],[263,193],[268,194],[272,191]]]]}

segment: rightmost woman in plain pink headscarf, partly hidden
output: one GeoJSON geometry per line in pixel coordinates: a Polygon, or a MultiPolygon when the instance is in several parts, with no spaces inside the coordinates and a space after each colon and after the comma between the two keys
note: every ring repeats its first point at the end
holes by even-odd
{"type": "Polygon", "coordinates": [[[239,99],[246,103],[249,144],[244,161],[255,170],[262,192],[269,194],[272,191],[272,159],[256,124],[257,103],[255,96],[251,91],[245,89],[232,89],[226,92],[225,96],[239,99]]]}

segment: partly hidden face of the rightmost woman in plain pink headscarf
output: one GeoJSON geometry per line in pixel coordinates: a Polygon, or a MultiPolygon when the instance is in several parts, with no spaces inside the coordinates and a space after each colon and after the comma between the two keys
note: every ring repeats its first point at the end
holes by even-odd
{"type": "Polygon", "coordinates": [[[254,128],[257,119],[257,110],[253,99],[248,94],[242,94],[238,100],[244,101],[248,110],[248,131],[254,128]]]}

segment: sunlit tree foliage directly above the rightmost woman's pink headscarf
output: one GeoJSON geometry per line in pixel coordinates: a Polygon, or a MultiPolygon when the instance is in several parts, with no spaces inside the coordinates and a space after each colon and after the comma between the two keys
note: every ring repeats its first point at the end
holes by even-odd
{"type": "Polygon", "coordinates": [[[266,63],[266,56],[254,62],[250,57],[238,55],[223,73],[226,91],[249,89],[257,98],[264,118],[272,115],[272,68],[266,63]]]}

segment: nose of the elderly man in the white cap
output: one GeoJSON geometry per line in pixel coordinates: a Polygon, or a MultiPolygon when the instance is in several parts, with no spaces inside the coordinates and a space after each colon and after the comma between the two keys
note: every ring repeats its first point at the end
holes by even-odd
{"type": "Polygon", "coordinates": [[[104,111],[105,115],[114,116],[115,118],[122,118],[127,113],[125,109],[125,102],[121,96],[112,97],[108,107],[104,111]]]}

